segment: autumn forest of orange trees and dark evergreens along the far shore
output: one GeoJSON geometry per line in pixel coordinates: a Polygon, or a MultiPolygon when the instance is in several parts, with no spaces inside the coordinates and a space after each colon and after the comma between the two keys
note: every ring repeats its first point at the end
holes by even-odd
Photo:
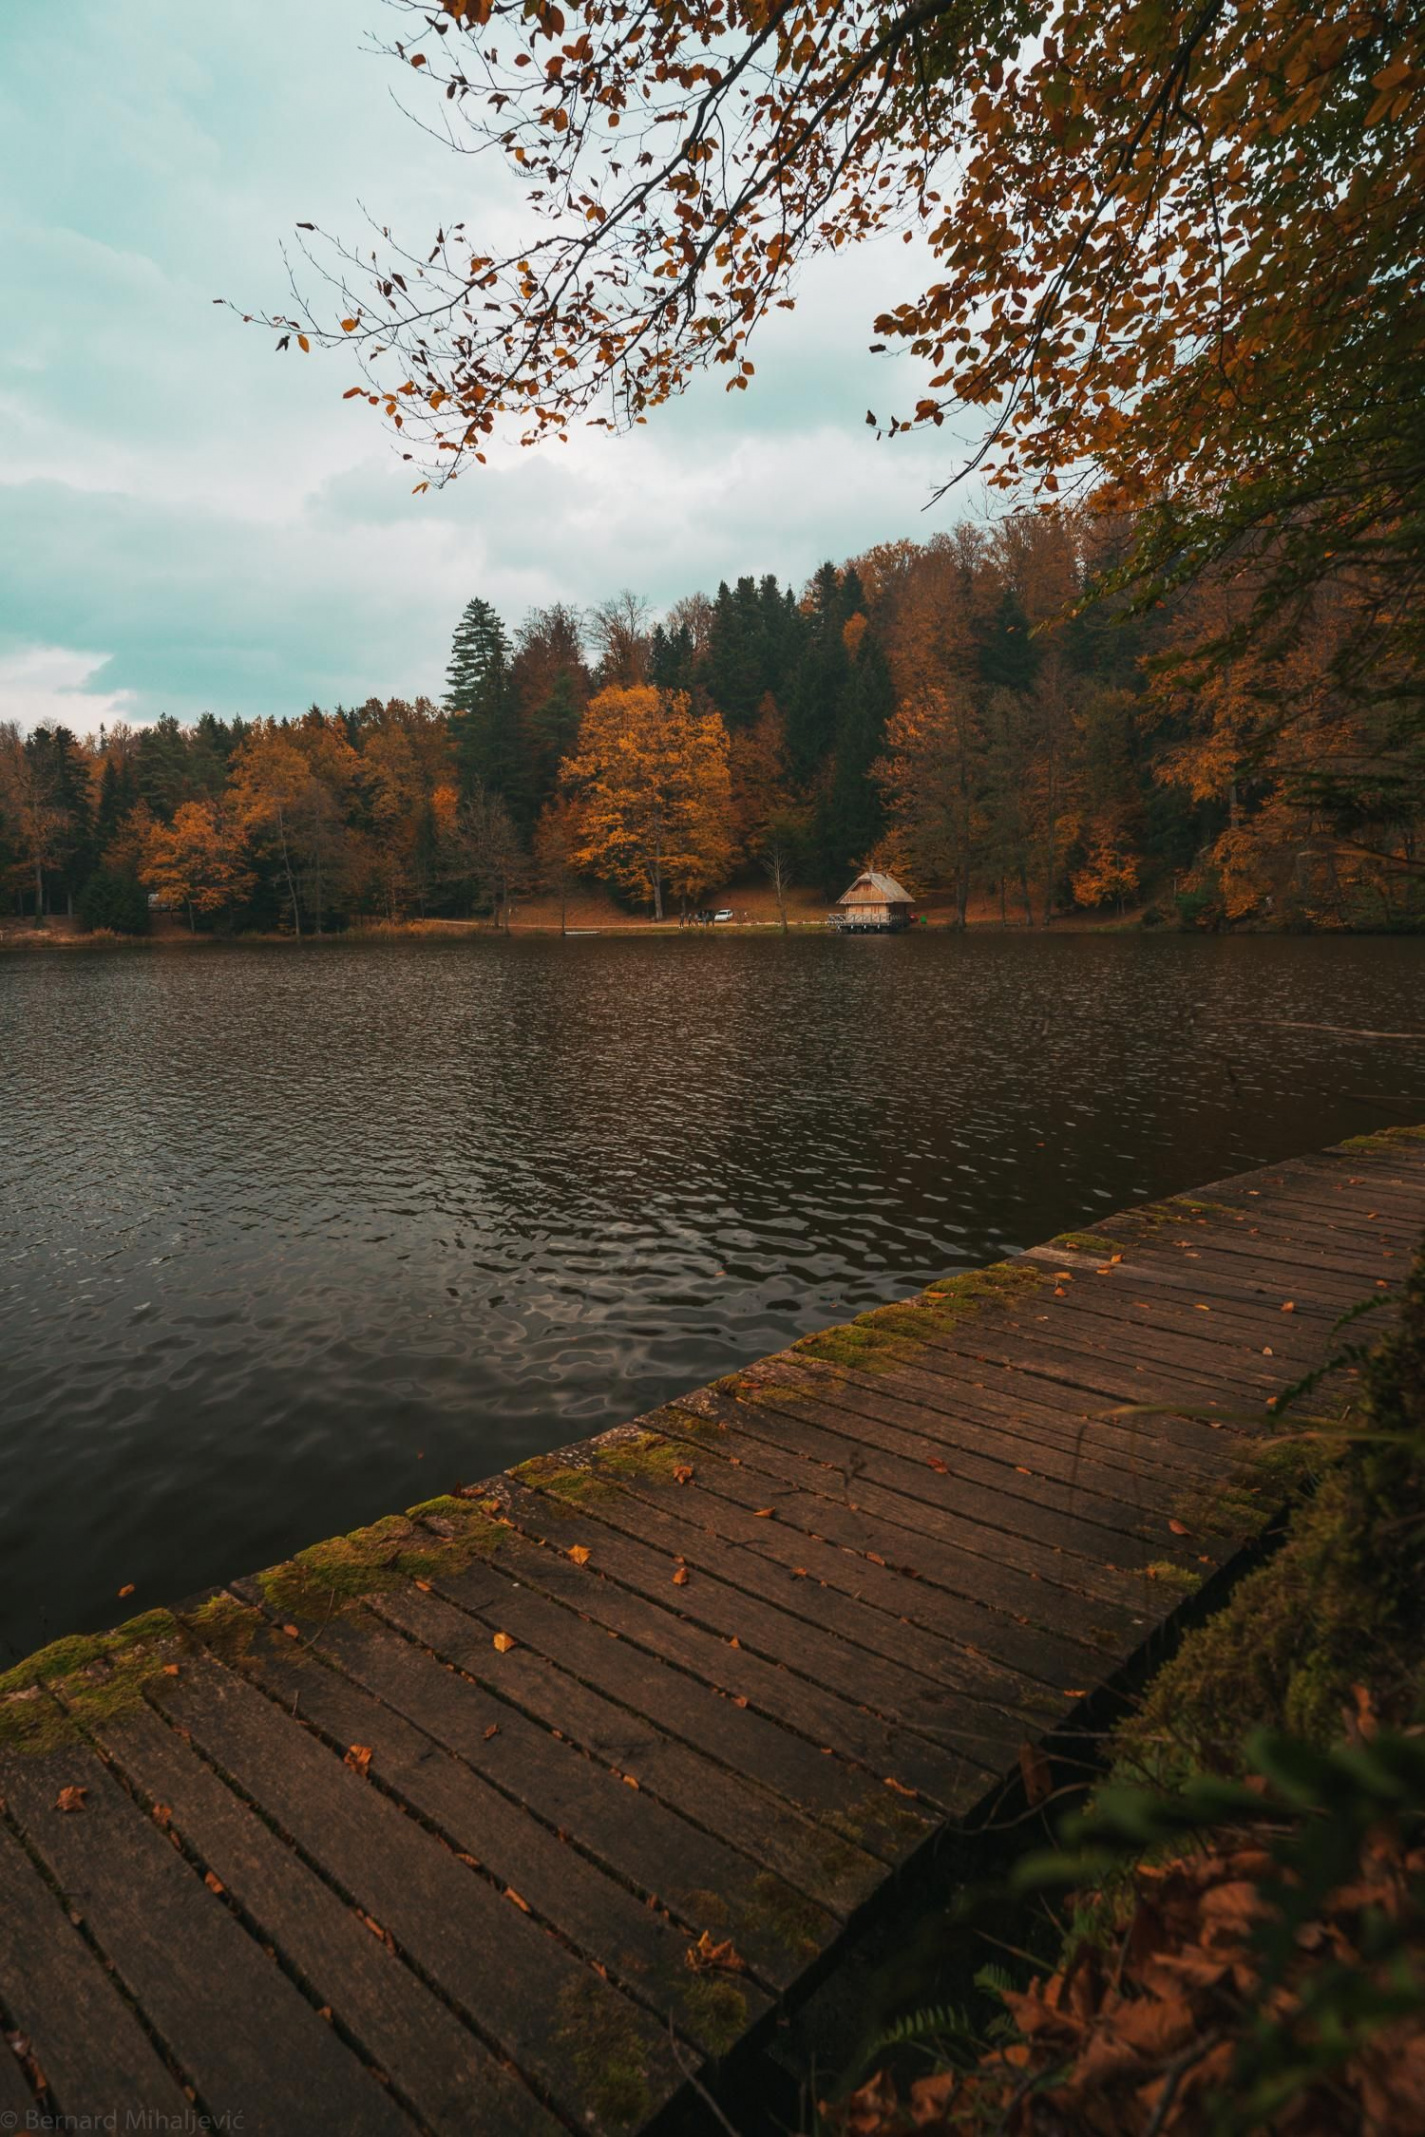
{"type": "Polygon", "coordinates": [[[664,919],[874,861],[961,923],[1423,925],[1421,739],[1342,677],[1348,596],[1224,658],[1228,575],[1139,615],[1083,598],[1124,539],[1030,513],[513,637],[474,598],[440,705],[0,727],[0,912],[308,934],[590,883],[664,919]]]}

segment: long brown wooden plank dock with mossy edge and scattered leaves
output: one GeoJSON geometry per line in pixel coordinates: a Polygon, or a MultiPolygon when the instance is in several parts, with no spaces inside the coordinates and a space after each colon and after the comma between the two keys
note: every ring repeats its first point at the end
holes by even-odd
{"type": "Polygon", "coordinates": [[[1241,1549],[1423,1227],[1421,1130],[1218,1182],[34,1656],[0,2126],[675,2128],[1241,1549]]]}

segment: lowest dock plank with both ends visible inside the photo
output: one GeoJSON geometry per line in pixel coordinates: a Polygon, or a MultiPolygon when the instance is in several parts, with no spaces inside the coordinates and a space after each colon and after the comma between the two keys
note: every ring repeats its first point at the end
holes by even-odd
{"type": "Polygon", "coordinates": [[[156,1697],[570,2118],[622,2137],[682,2090],[664,2028],[256,1686],[197,1665],[156,1697]]]}

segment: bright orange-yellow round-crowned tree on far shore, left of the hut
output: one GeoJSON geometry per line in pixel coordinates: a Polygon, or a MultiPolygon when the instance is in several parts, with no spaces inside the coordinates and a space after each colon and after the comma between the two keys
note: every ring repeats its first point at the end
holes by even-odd
{"type": "Polygon", "coordinates": [[[600,690],[564,759],[577,810],[575,868],[647,895],[696,898],[733,857],[733,780],[722,716],[696,714],[684,690],[600,690]]]}

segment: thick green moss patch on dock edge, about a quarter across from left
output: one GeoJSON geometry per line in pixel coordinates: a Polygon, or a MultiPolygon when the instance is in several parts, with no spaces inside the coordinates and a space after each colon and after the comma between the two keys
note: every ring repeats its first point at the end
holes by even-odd
{"type": "Polygon", "coordinates": [[[391,1513],[348,1537],[312,1543],[280,1566],[267,1566],[256,1584],[271,1609],[325,1620],[382,1588],[459,1573],[472,1558],[489,1558],[502,1541],[504,1528],[483,1507],[464,1498],[432,1498],[408,1515],[391,1513]],[[447,1537],[419,1526],[432,1515],[453,1532],[447,1537]]]}

